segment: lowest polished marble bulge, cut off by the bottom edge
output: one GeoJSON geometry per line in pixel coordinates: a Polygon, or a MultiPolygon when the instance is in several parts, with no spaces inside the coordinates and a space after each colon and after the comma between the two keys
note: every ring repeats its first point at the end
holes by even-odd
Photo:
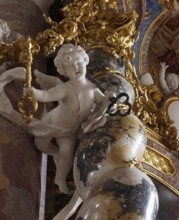
{"type": "Polygon", "coordinates": [[[150,178],[136,167],[120,168],[93,190],[76,220],[154,220],[157,211],[150,178]]]}

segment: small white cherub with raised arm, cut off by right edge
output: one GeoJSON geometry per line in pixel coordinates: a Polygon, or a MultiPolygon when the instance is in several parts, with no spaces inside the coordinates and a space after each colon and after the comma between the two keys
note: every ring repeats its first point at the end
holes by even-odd
{"type": "Polygon", "coordinates": [[[164,97],[171,95],[174,92],[178,92],[179,89],[179,75],[176,73],[167,73],[166,69],[168,65],[160,63],[159,71],[159,85],[164,97]]]}

